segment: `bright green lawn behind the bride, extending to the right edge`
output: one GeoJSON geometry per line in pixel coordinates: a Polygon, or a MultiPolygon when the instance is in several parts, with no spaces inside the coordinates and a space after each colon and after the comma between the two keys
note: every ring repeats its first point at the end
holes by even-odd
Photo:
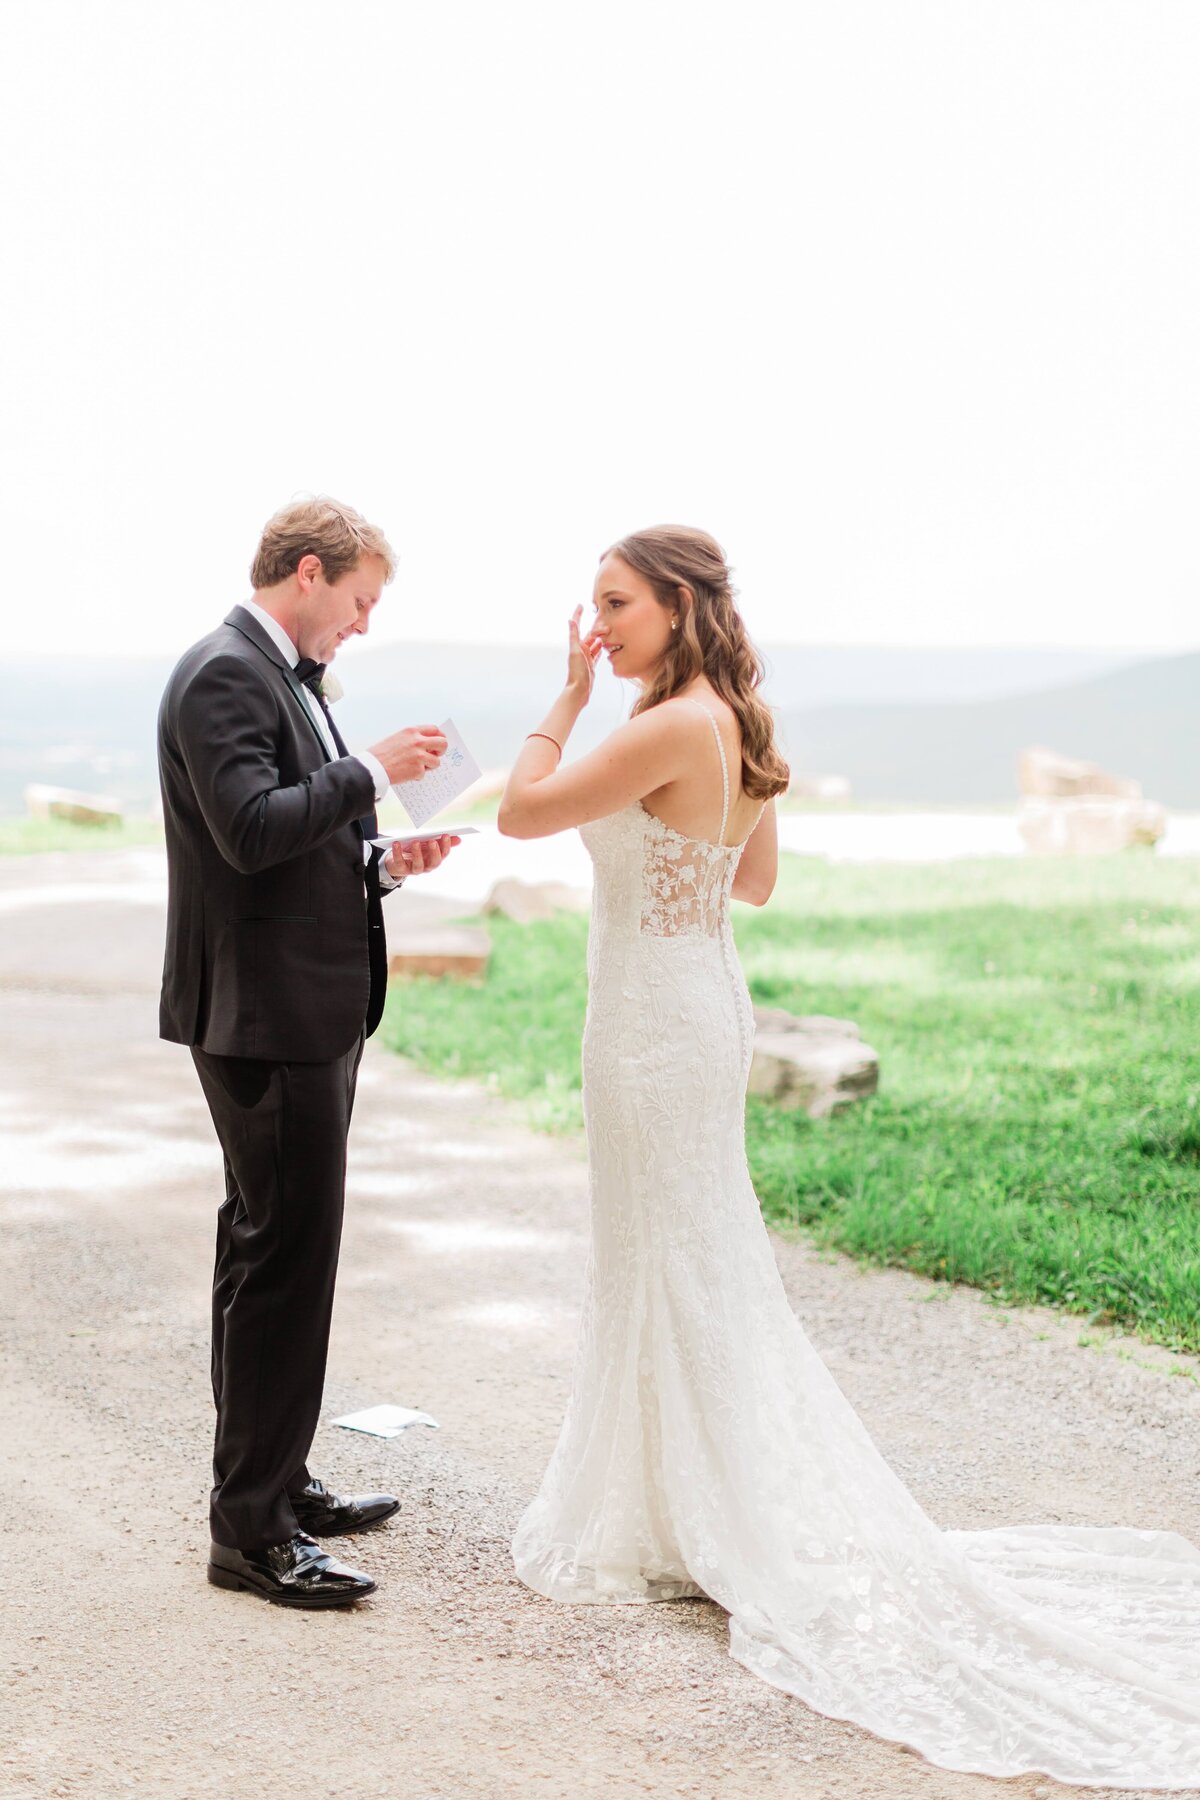
{"type": "MultiPolygon", "coordinates": [[[[488,983],[398,990],[387,1035],[578,1129],[587,923],[491,927],[488,983]]],[[[750,1102],[772,1224],[1200,1350],[1200,862],[784,857],[738,943],[756,1001],[882,1058],[833,1120],[750,1102]]]]}

